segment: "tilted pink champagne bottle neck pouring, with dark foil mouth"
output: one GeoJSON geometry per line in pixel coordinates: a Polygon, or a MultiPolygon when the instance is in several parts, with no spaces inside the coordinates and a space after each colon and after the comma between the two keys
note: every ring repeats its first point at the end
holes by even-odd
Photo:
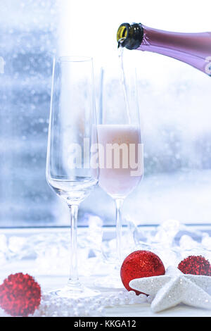
{"type": "Polygon", "coordinates": [[[123,23],[117,30],[117,42],[127,49],[176,58],[211,76],[211,32],[168,32],[141,23],[123,23]]]}

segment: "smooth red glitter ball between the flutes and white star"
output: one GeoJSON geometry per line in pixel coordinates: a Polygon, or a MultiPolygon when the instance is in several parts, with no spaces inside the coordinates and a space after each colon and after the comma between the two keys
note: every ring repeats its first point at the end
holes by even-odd
{"type": "MultiPolygon", "coordinates": [[[[136,278],[159,276],[165,274],[165,267],[158,255],[151,251],[134,251],[124,259],[120,270],[120,276],[124,287],[128,291],[134,291],[129,287],[129,282],[136,278]]],[[[135,291],[136,294],[141,292],[135,291]]]]}

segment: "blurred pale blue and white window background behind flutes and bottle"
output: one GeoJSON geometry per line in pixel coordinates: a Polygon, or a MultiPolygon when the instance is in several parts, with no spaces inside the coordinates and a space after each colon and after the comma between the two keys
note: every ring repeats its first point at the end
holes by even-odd
{"type": "MultiPolygon", "coordinates": [[[[1,227],[69,225],[67,207],[45,178],[53,54],[94,57],[98,109],[101,67],[118,65],[121,23],[204,32],[211,31],[210,11],[206,0],[191,6],[181,0],[0,0],[1,227]]],[[[136,66],[145,150],[145,177],[125,200],[124,216],[136,225],[210,224],[210,77],[158,54],[124,56],[136,66]]],[[[90,214],[114,224],[113,201],[100,188],[81,204],[79,225],[90,214]]]]}

